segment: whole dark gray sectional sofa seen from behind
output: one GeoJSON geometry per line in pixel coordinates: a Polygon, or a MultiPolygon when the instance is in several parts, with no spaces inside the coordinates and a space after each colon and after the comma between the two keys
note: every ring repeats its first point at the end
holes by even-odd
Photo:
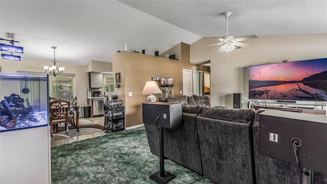
{"type": "MultiPolygon", "coordinates": [[[[265,109],[210,107],[209,99],[199,96],[166,101],[181,103],[183,109],[183,124],[164,129],[166,158],[215,183],[300,183],[296,165],[259,153],[259,114],[265,109]]],[[[158,129],[145,128],[150,151],[159,155],[158,129]]],[[[314,184],[323,183],[327,174],[315,172],[314,184]]]]}

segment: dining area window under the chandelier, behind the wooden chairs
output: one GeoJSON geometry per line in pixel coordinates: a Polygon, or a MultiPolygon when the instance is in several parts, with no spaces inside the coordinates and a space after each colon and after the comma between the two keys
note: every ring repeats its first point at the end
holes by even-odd
{"type": "MultiPolygon", "coordinates": [[[[50,75],[51,76],[51,75],[50,75]]],[[[74,95],[74,76],[57,75],[50,77],[50,91],[53,98],[71,100],[74,95]]]]}

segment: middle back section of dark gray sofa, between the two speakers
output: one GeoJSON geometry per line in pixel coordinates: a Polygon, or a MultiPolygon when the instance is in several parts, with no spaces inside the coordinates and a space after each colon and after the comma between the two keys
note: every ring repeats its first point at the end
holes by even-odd
{"type": "Polygon", "coordinates": [[[203,107],[196,119],[203,176],[216,183],[253,183],[255,111],[203,107]]]}

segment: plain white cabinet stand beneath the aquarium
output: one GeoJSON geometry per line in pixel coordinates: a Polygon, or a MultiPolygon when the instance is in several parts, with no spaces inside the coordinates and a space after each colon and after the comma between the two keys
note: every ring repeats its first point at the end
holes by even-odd
{"type": "Polygon", "coordinates": [[[50,126],[0,133],[0,183],[51,183],[50,126]]]}

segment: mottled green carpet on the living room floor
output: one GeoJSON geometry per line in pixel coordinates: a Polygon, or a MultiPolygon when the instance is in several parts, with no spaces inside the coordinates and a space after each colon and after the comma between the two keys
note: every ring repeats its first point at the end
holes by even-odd
{"type": "MultiPolygon", "coordinates": [[[[165,170],[176,176],[168,183],[213,183],[169,159],[165,159],[165,170]]],[[[159,157],[150,152],[144,127],[51,148],[54,184],[156,183],[149,176],[157,171],[159,157]]]]}

